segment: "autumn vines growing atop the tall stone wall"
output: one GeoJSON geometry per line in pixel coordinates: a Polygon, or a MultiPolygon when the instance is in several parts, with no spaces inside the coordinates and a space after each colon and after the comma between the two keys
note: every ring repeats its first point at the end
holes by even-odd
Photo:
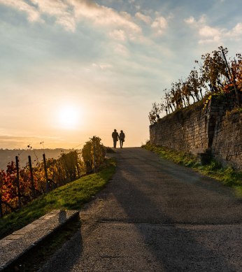
{"type": "MultiPolygon", "coordinates": [[[[227,59],[228,50],[220,46],[212,54],[201,56],[201,62],[195,61],[199,69],[192,69],[185,80],[171,83],[169,90],[164,90],[160,103],[152,103],[148,115],[150,124],[154,124],[162,112],[167,114],[202,101],[204,108],[212,96],[227,99],[227,94],[233,94],[234,107],[241,107],[242,95],[242,55],[227,59]]],[[[231,95],[229,97],[232,97],[231,95]]]]}

